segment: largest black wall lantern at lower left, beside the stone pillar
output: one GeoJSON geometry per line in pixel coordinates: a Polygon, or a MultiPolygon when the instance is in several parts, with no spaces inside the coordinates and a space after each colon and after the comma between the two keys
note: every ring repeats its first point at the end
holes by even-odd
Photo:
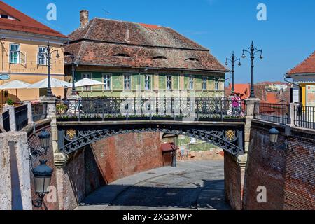
{"type": "Polygon", "coordinates": [[[41,160],[41,165],[35,167],[32,172],[34,175],[35,193],[38,198],[33,201],[33,205],[36,208],[40,208],[43,205],[44,197],[48,194],[48,187],[50,186],[51,176],[53,169],[46,165],[47,160],[41,160]]]}

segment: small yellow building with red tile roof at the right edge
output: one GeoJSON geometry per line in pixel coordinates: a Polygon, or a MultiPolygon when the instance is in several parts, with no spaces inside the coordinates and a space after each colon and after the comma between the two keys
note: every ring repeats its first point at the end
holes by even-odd
{"type": "Polygon", "coordinates": [[[286,73],[292,78],[293,102],[301,102],[304,106],[315,106],[315,51],[302,63],[286,73]]]}

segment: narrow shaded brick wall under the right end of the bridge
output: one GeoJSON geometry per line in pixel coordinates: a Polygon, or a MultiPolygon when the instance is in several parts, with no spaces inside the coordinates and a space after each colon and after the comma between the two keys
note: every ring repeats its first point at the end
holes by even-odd
{"type": "Polygon", "coordinates": [[[224,153],[225,200],[232,209],[242,209],[244,169],[237,165],[237,159],[229,153],[224,153]]]}

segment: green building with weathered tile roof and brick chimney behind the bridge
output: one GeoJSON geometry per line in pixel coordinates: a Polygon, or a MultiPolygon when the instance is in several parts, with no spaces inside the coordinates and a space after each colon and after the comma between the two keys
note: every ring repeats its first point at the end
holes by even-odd
{"type": "MultiPolygon", "coordinates": [[[[171,28],[94,18],[80,12],[80,28],[65,51],[75,55],[76,80],[104,83],[83,97],[224,97],[227,69],[209,50],[171,28]]],[[[71,81],[71,59],[65,58],[71,81]]],[[[86,89],[85,89],[86,90],[86,89]]]]}

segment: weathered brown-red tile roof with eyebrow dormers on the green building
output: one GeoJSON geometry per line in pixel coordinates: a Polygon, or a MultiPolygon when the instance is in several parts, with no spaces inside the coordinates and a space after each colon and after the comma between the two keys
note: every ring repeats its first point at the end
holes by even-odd
{"type": "Polygon", "coordinates": [[[75,52],[81,65],[228,71],[207,48],[168,27],[94,18],[69,39],[64,49],[75,52]]]}

